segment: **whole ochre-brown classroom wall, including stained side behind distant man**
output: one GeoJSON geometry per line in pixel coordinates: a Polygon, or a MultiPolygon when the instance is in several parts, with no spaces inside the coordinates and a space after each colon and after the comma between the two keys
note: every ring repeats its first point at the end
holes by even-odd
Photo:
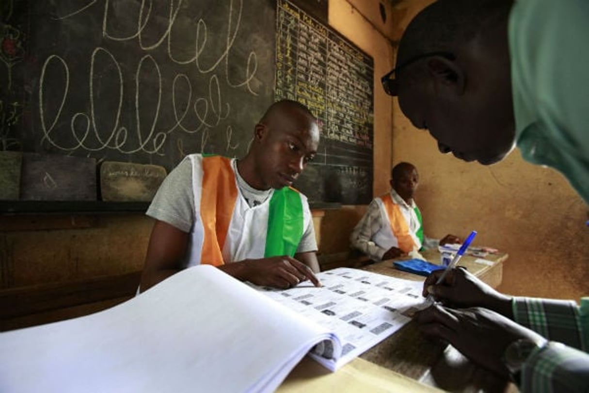
{"type": "MultiPolygon", "coordinates": [[[[393,67],[402,27],[428,3],[330,0],[330,25],[374,58],[373,193],[389,189],[393,163],[412,162],[421,174],[416,200],[428,236],[465,236],[477,229],[478,245],[510,255],[504,292],[578,299],[587,294],[589,282],[584,226],[589,217],[567,182],[523,162],[518,153],[491,167],[439,154],[434,139],[415,130],[380,88],[380,76],[393,67]],[[385,6],[386,22],[379,4],[385,6]]],[[[345,253],[349,233],[365,210],[343,206],[317,213],[320,253],[345,253]]],[[[137,272],[152,224],[141,213],[0,216],[0,289],[137,272]]]]}

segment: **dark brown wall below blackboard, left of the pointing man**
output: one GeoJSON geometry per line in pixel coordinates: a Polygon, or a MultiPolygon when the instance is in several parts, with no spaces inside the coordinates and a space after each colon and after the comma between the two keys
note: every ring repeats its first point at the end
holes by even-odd
{"type": "Polygon", "coordinates": [[[130,299],[152,224],[143,213],[0,215],[0,332],[130,299]]]}

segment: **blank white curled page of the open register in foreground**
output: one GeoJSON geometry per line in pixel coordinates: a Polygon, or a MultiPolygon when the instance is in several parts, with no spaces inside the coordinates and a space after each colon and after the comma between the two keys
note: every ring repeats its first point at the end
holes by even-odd
{"type": "Polygon", "coordinates": [[[0,392],[273,391],[329,328],[212,266],[69,321],[0,333],[0,392]]]}

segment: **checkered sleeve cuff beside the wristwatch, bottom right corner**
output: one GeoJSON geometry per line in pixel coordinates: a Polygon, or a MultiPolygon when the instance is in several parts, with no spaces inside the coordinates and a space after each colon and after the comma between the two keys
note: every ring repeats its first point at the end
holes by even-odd
{"type": "Polygon", "coordinates": [[[519,389],[522,393],[589,392],[589,354],[549,342],[525,361],[519,389]]]}

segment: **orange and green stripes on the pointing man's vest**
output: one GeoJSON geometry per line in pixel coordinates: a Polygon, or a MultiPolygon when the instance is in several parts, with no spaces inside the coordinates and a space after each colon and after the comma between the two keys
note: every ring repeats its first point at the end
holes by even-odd
{"type": "MultiPolygon", "coordinates": [[[[237,199],[235,173],[231,160],[221,156],[203,156],[203,184],[200,216],[204,240],[201,263],[223,265],[222,250],[237,199]]],[[[290,187],[274,190],[270,198],[264,257],[294,256],[303,237],[303,204],[290,187]]]]}

